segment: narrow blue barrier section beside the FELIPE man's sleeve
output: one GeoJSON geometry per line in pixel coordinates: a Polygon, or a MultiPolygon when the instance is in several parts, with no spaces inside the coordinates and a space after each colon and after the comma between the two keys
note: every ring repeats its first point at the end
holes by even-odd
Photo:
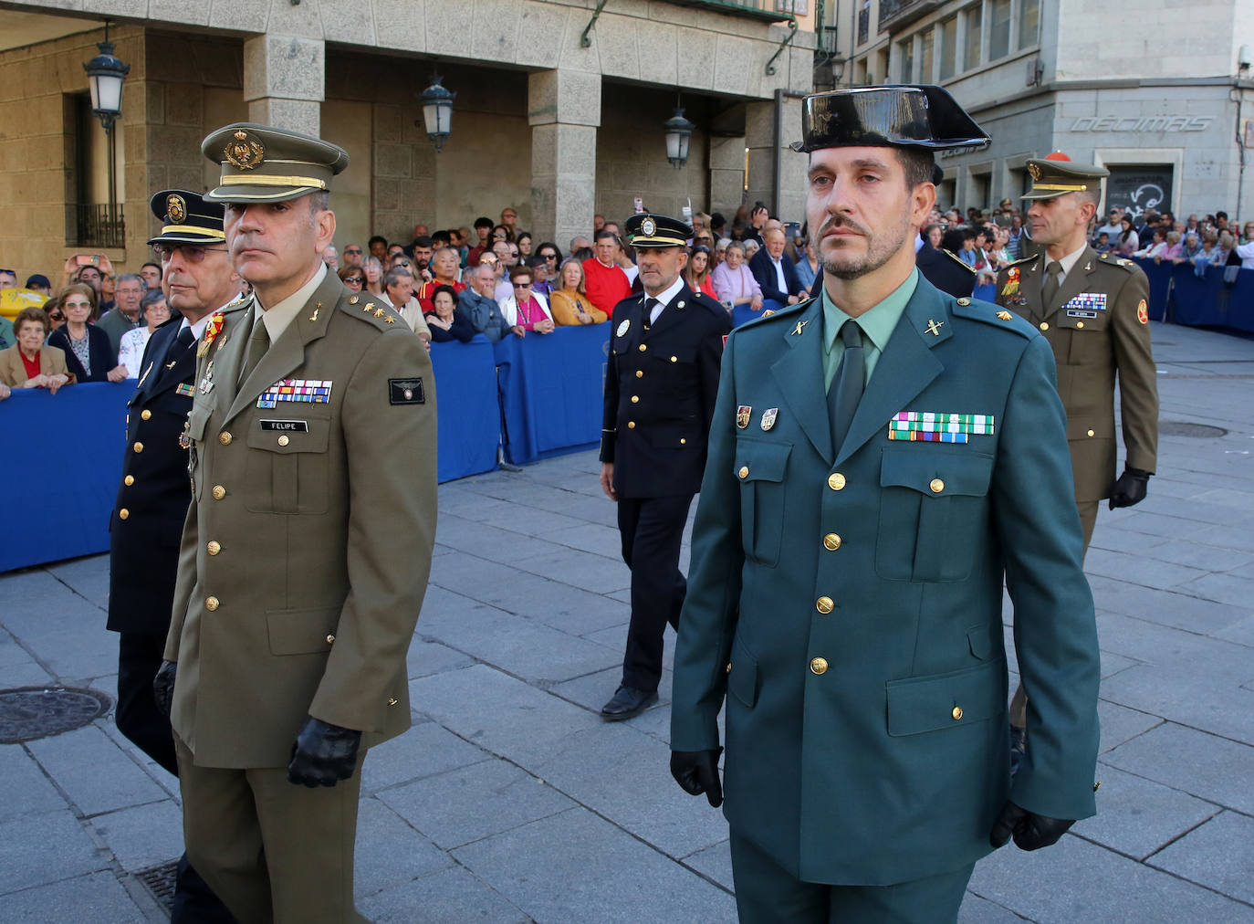
{"type": "Polygon", "coordinates": [[[497,468],[500,406],[492,344],[477,333],[469,344],[431,344],[435,370],[440,481],[497,468]]]}

